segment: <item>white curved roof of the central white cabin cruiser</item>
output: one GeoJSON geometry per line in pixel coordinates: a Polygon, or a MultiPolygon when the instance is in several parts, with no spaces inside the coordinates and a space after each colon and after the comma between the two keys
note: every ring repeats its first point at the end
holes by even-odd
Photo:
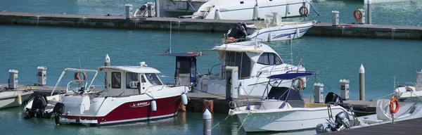
{"type": "Polygon", "coordinates": [[[222,44],[214,46],[212,49],[203,49],[203,51],[234,51],[234,52],[252,52],[252,53],[263,53],[272,52],[276,53],[267,44],[259,41],[242,41],[236,43],[222,44]]]}

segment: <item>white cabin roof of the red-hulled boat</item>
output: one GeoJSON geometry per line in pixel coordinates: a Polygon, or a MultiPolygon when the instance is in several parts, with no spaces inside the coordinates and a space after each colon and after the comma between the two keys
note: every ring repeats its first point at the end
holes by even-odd
{"type": "Polygon", "coordinates": [[[99,71],[103,70],[123,70],[128,72],[136,72],[136,73],[161,73],[160,71],[156,70],[155,68],[147,67],[147,66],[101,66],[98,68],[99,71]]]}

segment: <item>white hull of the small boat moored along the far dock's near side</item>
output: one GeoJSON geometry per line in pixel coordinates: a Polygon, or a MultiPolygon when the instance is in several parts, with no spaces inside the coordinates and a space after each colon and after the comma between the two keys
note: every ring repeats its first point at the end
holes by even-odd
{"type": "Polygon", "coordinates": [[[282,27],[267,27],[261,30],[255,30],[253,34],[247,36],[247,39],[259,39],[260,41],[282,41],[288,39],[298,39],[305,35],[313,23],[298,23],[283,25],[282,27]]]}

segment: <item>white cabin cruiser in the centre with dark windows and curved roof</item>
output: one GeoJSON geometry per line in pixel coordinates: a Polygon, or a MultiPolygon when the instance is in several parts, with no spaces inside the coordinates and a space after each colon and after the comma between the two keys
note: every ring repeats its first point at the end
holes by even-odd
{"type": "MultiPolygon", "coordinates": [[[[207,74],[200,75],[196,79],[193,92],[226,94],[226,88],[231,89],[234,86],[234,92],[238,95],[262,96],[270,75],[305,71],[302,59],[298,65],[285,63],[276,51],[260,41],[224,43],[203,51],[217,51],[221,61],[221,64],[217,64],[220,70],[219,73],[212,74],[212,69],[217,66],[213,65],[207,74]]],[[[306,78],[299,77],[295,83],[305,87],[305,80],[306,78]]],[[[280,86],[290,87],[292,81],[286,79],[280,86]]]]}

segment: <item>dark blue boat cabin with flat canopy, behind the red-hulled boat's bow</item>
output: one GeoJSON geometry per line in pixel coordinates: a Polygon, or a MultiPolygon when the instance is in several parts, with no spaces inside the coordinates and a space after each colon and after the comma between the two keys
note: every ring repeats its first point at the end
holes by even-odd
{"type": "Polygon", "coordinates": [[[175,83],[177,85],[192,86],[197,77],[196,57],[205,56],[200,52],[187,53],[159,53],[157,56],[174,56],[176,57],[176,69],[174,70],[175,83]]]}

